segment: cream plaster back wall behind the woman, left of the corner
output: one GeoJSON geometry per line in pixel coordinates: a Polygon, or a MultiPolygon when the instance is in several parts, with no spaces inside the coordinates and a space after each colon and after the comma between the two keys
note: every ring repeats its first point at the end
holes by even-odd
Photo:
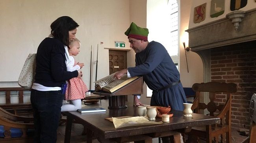
{"type": "MultiPolygon", "coordinates": [[[[70,16],[80,26],[76,37],[81,52],[75,59],[85,63],[83,80],[89,87],[90,52],[92,81],[109,75],[108,50],[114,41],[127,41],[124,31],[130,24],[129,0],[0,0],[0,87],[19,87],[17,80],[29,53],[50,34],[50,24],[60,16],[70,16]],[[104,42],[104,45],[100,45],[104,42]]],[[[129,45],[128,45],[129,46],[129,45]]],[[[130,65],[128,60],[128,65],[130,65]]],[[[92,89],[94,89],[92,84],[92,89]]]]}

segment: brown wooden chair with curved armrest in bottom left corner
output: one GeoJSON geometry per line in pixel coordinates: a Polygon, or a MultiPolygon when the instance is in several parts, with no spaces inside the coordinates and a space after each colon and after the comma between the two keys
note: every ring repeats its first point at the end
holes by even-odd
{"type": "Polygon", "coordinates": [[[4,129],[4,137],[0,137],[0,143],[32,143],[33,136],[28,136],[28,130],[34,128],[32,122],[32,117],[17,116],[0,107],[0,125],[4,129]],[[12,137],[12,131],[20,132],[20,136],[12,137]]]}

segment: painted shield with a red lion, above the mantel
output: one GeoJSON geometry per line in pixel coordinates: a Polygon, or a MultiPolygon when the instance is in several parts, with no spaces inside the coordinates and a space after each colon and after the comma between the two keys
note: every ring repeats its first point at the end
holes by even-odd
{"type": "Polygon", "coordinates": [[[206,3],[195,7],[194,11],[194,23],[200,23],[205,20],[206,15],[206,3]]]}

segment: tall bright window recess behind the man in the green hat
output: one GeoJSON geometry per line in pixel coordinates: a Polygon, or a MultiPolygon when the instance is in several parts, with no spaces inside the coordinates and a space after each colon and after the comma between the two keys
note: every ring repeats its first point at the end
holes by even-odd
{"type": "MultiPolygon", "coordinates": [[[[178,68],[178,3],[177,0],[147,0],[148,40],[161,43],[178,68]]],[[[147,97],[152,91],[147,88],[147,97]]]]}

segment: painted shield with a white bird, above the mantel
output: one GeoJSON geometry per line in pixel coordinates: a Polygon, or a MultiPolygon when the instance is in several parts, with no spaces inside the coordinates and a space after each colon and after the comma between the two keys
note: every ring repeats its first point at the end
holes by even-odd
{"type": "Polygon", "coordinates": [[[225,11],[225,0],[211,0],[210,16],[218,17],[225,11]]]}

